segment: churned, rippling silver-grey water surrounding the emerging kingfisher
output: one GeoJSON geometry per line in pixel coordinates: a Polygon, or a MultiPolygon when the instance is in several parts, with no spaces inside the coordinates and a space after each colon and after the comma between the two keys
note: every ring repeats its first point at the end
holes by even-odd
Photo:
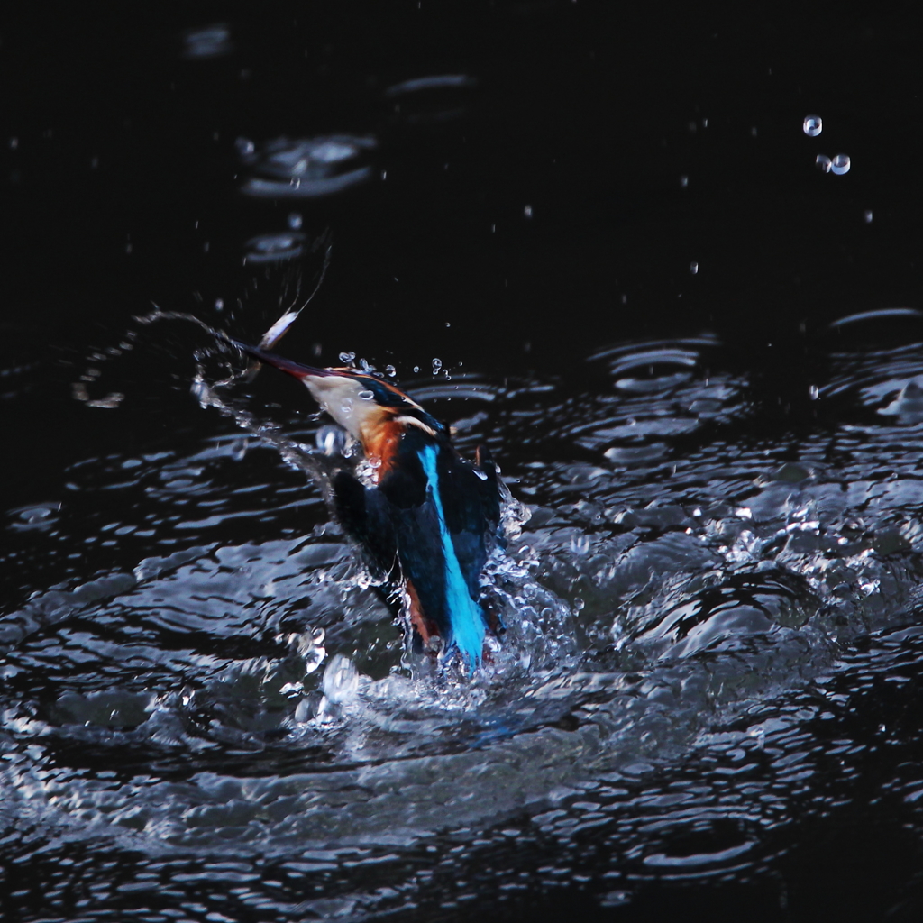
{"type": "Polygon", "coordinates": [[[50,882],[10,906],[615,907],[771,875],[885,748],[878,797],[918,832],[923,344],[834,346],[818,424],[774,438],[747,435],[763,404],[708,336],[601,350],[585,389],[410,382],[532,514],[509,506],[488,574],[508,630],[470,683],[408,657],[328,521],[307,473],[335,427],[203,379],[194,444],[75,465],[6,518],[0,815],[50,882]],[[131,561],[42,583],[78,545],[131,561]]]}

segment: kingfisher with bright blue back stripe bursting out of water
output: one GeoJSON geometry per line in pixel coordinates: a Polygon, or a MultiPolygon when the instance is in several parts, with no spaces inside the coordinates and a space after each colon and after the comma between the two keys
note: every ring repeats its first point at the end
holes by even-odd
{"type": "Polygon", "coordinates": [[[354,368],[302,366],[231,341],[259,362],[297,378],[361,445],[364,473],[339,470],[334,514],[403,594],[414,642],[428,653],[457,649],[469,674],[484,657],[497,619],[481,602],[480,578],[497,546],[497,466],[480,447],[459,454],[450,430],[390,382],[354,368]]]}

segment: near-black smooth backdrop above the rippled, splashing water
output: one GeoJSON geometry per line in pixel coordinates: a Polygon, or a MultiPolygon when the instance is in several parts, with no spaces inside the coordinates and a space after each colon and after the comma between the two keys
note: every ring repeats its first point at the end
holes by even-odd
{"type": "MultiPolygon", "coordinates": [[[[64,462],[142,430],[175,438],[145,382],[172,376],[188,402],[186,342],[166,334],[123,373],[143,420],[127,431],[73,401],[75,369],[151,302],[258,337],[298,272],[317,271],[242,265],[246,240],[290,211],[333,241],[285,342],[294,357],[319,343],[324,363],[350,350],[404,376],[439,356],[579,379],[606,343],[708,330],[779,408],[760,426],[809,425],[829,322],[919,304],[917,16],[909,3],[7,6],[0,496],[41,500],[64,462]],[[187,57],[186,30],[214,22],[226,53],[187,57]],[[462,114],[396,117],[383,90],[428,74],[477,79],[462,114]],[[801,128],[813,113],[819,138],[801,128]],[[241,195],[237,138],[333,132],[377,136],[387,178],[311,202],[241,195]],[[839,152],[850,172],[822,174],[815,156],[839,152]],[[217,298],[240,305],[208,314],[217,298]]],[[[829,893],[866,840],[861,823],[811,830],[798,850],[829,893]]],[[[716,889],[701,912],[733,913],[738,896],[716,889]]],[[[699,912],[687,900],[652,912],[699,912]]]]}

